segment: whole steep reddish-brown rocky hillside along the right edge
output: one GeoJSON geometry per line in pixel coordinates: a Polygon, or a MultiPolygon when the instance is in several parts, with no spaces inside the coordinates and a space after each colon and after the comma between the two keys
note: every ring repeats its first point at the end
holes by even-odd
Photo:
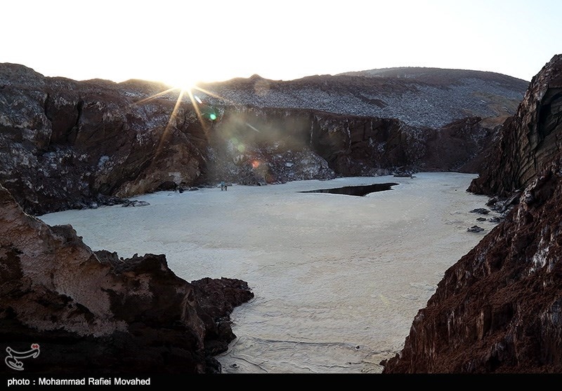
{"type": "Polygon", "coordinates": [[[505,220],[445,272],[384,373],[562,371],[561,109],[556,55],[469,188],[505,220]]]}

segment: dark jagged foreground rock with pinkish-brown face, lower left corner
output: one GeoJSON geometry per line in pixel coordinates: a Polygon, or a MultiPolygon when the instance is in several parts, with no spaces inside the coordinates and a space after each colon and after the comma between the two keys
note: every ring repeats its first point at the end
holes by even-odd
{"type": "MultiPolygon", "coordinates": [[[[91,251],[70,225],[50,227],[0,187],[0,348],[40,354],[25,373],[209,373],[235,338],[244,281],[177,277],[164,255],[91,251]]],[[[10,366],[0,372],[13,373],[10,366]]]]}

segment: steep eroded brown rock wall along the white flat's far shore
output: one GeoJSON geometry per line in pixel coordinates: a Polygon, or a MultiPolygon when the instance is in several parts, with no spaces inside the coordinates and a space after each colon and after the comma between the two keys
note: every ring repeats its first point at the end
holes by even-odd
{"type": "MultiPolygon", "coordinates": [[[[166,88],[43,77],[21,65],[1,65],[0,183],[37,215],[221,180],[265,185],[447,171],[460,169],[483,147],[476,117],[421,128],[307,108],[197,102],[166,88]]],[[[265,96],[251,93],[251,102],[265,96]]]]}

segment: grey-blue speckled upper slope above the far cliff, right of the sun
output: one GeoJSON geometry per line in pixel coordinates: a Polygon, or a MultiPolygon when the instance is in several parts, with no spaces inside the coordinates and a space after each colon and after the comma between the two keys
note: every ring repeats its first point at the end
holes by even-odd
{"type": "Polygon", "coordinates": [[[371,69],[274,81],[254,75],[204,84],[220,105],[312,109],[334,114],[396,118],[410,126],[438,128],[464,117],[515,114],[528,81],[493,72],[438,68],[371,69]]]}

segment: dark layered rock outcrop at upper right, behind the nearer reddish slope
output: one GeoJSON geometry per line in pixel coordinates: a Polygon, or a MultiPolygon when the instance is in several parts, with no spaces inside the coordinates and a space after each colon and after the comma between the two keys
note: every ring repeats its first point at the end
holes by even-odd
{"type": "Polygon", "coordinates": [[[530,185],[561,153],[561,121],[562,60],[555,56],[532,79],[516,114],[497,133],[485,169],[469,191],[508,197],[530,185]]]}

